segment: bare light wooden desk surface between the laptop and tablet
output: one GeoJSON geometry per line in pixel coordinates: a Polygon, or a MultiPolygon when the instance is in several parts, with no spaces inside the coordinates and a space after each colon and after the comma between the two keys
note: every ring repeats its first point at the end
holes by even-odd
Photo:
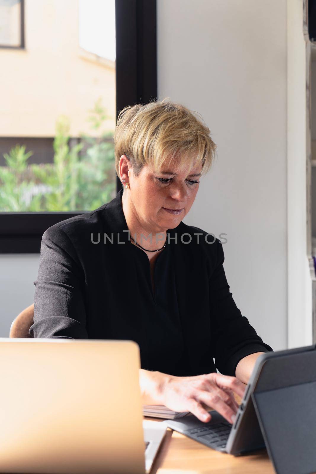
{"type": "MultiPolygon", "coordinates": [[[[238,397],[236,397],[238,403],[238,397]]],[[[151,418],[154,419],[154,418],[151,418]]],[[[157,418],[154,419],[159,423],[157,418]]],[[[168,428],[151,474],[274,474],[265,449],[246,456],[215,451],[168,428]]]]}

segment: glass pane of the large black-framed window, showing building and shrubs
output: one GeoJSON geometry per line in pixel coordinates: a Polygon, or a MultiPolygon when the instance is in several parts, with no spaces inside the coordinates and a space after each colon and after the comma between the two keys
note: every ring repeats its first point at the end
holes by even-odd
{"type": "MultiPolygon", "coordinates": [[[[1,26],[18,4],[0,0],[1,26]]],[[[24,18],[25,50],[0,48],[0,212],[96,209],[116,194],[115,0],[32,0],[24,18]]]]}

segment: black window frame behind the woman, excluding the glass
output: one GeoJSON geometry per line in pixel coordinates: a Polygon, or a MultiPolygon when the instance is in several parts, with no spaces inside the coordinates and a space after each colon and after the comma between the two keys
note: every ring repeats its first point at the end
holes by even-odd
{"type": "MultiPolygon", "coordinates": [[[[115,9],[118,116],[127,105],[157,99],[156,0],[116,0],[115,9]]],[[[117,177],[117,191],[121,188],[117,177]]],[[[0,254],[40,253],[47,228],[80,214],[0,212],[0,254]]]]}

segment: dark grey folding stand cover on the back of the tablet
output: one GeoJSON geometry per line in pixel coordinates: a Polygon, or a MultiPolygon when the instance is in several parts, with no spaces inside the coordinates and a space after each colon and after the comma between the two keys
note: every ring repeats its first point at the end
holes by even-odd
{"type": "Polygon", "coordinates": [[[267,360],[252,393],[277,474],[316,472],[316,351],[267,360]]]}

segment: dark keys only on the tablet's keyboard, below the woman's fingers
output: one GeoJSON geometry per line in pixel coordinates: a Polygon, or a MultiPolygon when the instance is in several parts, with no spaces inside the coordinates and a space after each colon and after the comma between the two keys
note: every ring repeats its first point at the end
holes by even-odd
{"type": "Polygon", "coordinates": [[[190,428],[183,433],[210,447],[223,448],[232,425],[228,421],[206,425],[200,428],[190,428]]]}

